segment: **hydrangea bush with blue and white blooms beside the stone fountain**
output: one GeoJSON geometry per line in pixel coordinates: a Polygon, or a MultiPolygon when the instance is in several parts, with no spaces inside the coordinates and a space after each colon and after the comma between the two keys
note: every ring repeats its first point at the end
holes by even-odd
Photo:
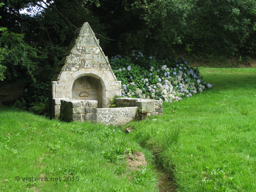
{"type": "Polygon", "coordinates": [[[190,67],[181,58],[159,61],[133,51],[130,57],[112,57],[110,64],[122,82],[123,97],[173,102],[213,86],[202,81],[198,68],[190,67]]]}

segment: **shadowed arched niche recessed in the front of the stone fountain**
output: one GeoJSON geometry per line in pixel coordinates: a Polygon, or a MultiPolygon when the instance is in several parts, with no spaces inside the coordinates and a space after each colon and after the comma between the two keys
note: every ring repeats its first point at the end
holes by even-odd
{"type": "Polygon", "coordinates": [[[101,80],[93,76],[79,77],[72,86],[72,99],[97,100],[97,107],[102,108],[103,86],[101,80]]]}

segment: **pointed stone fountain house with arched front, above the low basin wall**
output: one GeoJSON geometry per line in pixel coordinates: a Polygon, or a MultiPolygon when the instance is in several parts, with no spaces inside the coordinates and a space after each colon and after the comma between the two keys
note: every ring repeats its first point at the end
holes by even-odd
{"type": "MultiPolygon", "coordinates": [[[[86,80],[84,82],[86,83],[86,80]]],[[[116,80],[108,58],[103,53],[91,27],[88,23],[84,23],[76,30],[52,78],[52,98],[97,99],[99,107],[109,107],[110,99],[115,95],[121,95],[121,81],[116,80]],[[97,81],[97,86],[91,90],[72,90],[74,82],[83,76],[97,81]],[[93,97],[87,96],[90,91],[93,97]],[[97,92],[95,93],[97,97],[94,97],[93,92],[97,92]]],[[[54,117],[57,118],[60,106],[53,106],[53,109],[56,114],[54,117]]]]}

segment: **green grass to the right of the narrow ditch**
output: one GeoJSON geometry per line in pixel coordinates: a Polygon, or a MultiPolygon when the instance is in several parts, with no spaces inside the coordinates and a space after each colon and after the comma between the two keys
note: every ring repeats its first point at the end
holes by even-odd
{"type": "Polygon", "coordinates": [[[256,68],[200,71],[213,89],[164,103],[162,117],[130,123],[129,136],[155,153],[177,191],[256,191],[256,68]]]}

